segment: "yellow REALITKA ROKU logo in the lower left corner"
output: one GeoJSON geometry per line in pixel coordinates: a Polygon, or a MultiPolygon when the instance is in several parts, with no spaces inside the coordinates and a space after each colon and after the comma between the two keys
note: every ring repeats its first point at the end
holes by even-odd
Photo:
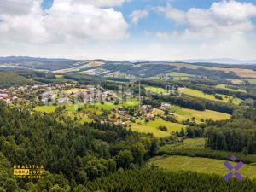
{"type": "Polygon", "coordinates": [[[44,172],[44,166],[38,165],[15,165],[14,177],[15,178],[41,178],[44,172]]]}

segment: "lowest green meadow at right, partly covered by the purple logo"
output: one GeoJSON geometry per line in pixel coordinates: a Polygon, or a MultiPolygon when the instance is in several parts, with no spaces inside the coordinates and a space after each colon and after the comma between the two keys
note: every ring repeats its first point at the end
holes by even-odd
{"type": "MultiPolygon", "coordinates": [[[[228,170],[224,166],[224,160],[214,160],[201,157],[187,156],[160,156],[149,160],[148,165],[154,164],[168,171],[191,171],[201,173],[215,173],[221,176],[227,174],[228,170]]],[[[235,166],[236,163],[230,162],[235,166]]],[[[256,178],[256,167],[244,165],[239,170],[243,177],[256,178]]]]}

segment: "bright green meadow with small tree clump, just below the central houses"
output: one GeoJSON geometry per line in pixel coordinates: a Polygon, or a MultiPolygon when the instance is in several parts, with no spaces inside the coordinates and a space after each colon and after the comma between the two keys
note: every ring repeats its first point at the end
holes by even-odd
{"type": "Polygon", "coordinates": [[[172,131],[180,131],[184,125],[167,122],[162,119],[150,120],[147,124],[144,121],[137,121],[137,123],[131,123],[131,130],[143,133],[152,133],[155,137],[168,137],[172,131]],[[160,131],[158,127],[160,125],[166,126],[168,131],[160,131]]]}

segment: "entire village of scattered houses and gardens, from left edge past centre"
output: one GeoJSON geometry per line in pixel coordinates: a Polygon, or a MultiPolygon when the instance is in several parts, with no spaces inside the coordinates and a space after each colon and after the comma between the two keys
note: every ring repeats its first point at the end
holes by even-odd
{"type": "MultiPolygon", "coordinates": [[[[54,112],[58,106],[78,106],[72,110],[72,116],[79,117],[81,122],[95,120],[102,124],[112,122],[126,127],[132,123],[146,124],[154,119],[176,122],[174,113],[169,110],[169,103],[161,103],[160,107],[154,108],[141,101],[143,96],[132,96],[129,91],[105,90],[99,85],[66,83],[11,87],[0,90],[0,100],[16,106],[29,106],[32,110],[43,108],[38,112],[45,113],[54,112]],[[95,106],[101,113],[96,115],[95,106]],[[54,110],[48,111],[49,108],[54,110]],[[84,108],[84,116],[79,108],[84,108]]],[[[65,108],[65,111],[66,116],[71,115],[70,110],[65,108]]]]}

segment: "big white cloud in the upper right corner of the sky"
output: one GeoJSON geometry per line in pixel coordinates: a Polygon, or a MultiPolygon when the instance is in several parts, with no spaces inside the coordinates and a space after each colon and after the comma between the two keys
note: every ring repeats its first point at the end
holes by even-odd
{"type": "Polygon", "coordinates": [[[209,9],[191,8],[187,12],[172,8],[158,9],[178,25],[186,26],[184,39],[227,38],[235,33],[253,30],[252,18],[256,16],[256,6],[235,0],[212,3],[209,9]]]}

